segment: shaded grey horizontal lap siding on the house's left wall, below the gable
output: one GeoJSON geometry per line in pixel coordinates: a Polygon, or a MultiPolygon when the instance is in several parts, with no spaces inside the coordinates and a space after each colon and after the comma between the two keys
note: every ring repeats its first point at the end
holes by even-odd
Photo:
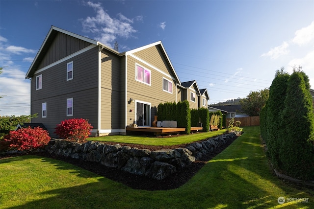
{"type": "Polygon", "coordinates": [[[88,119],[98,128],[98,47],[79,54],[52,68],[36,73],[31,79],[33,123],[43,123],[53,136],[62,120],[88,119]],[[67,81],[67,63],[73,61],[73,80],[67,81]],[[42,89],[36,90],[36,76],[42,75],[42,89]],[[67,98],[73,98],[73,116],[66,116],[67,98]],[[42,118],[42,103],[47,102],[47,117],[42,118]]]}

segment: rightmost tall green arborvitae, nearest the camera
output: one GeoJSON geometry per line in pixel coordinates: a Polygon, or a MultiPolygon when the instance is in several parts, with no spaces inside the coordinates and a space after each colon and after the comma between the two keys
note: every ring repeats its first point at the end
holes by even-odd
{"type": "Polygon", "coordinates": [[[314,180],[314,113],[308,80],[303,71],[294,70],[290,75],[280,126],[284,131],[279,166],[302,180],[314,180]]]}

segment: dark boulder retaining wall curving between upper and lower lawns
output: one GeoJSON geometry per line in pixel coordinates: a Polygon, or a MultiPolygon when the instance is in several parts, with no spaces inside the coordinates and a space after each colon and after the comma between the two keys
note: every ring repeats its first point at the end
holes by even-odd
{"type": "Polygon", "coordinates": [[[135,175],[145,175],[161,180],[195,160],[199,160],[203,155],[225,144],[227,140],[235,138],[235,133],[223,134],[200,143],[191,143],[185,148],[157,151],[131,148],[120,144],[109,145],[94,141],[81,144],[53,139],[46,146],[46,150],[51,154],[97,162],[135,175]]]}

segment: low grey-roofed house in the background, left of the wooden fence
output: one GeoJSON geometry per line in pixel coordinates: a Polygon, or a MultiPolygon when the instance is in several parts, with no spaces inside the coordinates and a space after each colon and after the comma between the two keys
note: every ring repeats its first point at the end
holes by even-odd
{"type": "Polygon", "coordinates": [[[243,112],[241,105],[220,105],[208,107],[209,112],[216,112],[220,110],[223,114],[226,115],[226,118],[233,117],[248,117],[246,113],[243,112]]]}

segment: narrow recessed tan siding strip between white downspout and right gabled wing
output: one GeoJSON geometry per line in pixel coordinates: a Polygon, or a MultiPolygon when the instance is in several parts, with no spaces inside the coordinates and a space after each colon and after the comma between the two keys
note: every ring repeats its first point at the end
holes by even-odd
{"type": "Polygon", "coordinates": [[[124,74],[120,57],[103,50],[101,59],[101,129],[124,129],[124,99],[121,99],[124,74]]]}

